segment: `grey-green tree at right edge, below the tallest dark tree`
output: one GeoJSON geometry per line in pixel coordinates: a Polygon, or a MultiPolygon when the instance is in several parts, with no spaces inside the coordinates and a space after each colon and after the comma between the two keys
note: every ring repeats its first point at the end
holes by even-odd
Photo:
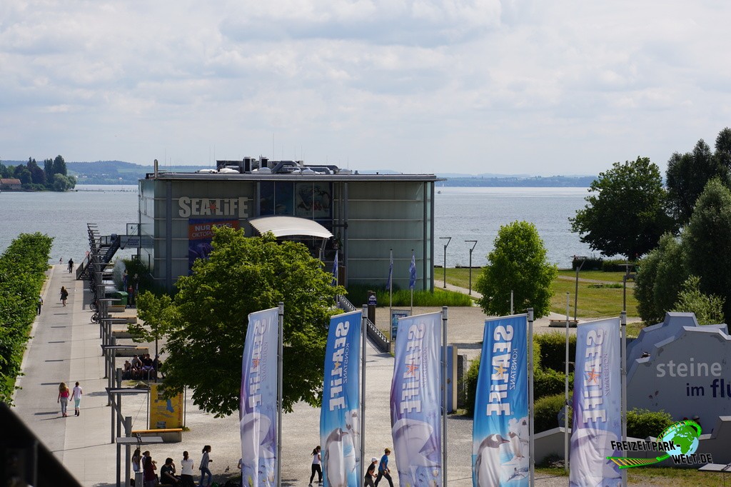
{"type": "Polygon", "coordinates": [[[698,198],[683,232],[689,271],[700,277],[700,291],[724,298],[731,319],[731,191],[711,180],[698,198]]]}

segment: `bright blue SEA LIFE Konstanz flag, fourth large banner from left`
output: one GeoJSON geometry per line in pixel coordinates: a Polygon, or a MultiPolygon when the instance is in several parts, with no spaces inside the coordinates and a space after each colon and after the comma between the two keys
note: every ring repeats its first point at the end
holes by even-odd
{"type": "Polygon", "coordinates": [[[528,317],[485,320],[472,423],[472,486],[528,487],[528,317]]]}

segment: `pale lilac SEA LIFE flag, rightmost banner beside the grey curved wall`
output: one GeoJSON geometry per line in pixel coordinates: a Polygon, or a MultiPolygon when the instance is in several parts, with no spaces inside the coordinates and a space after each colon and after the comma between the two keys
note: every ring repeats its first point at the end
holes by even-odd
{"type": "Polygon", "coordinates": [[[571,486],[621,485],[619,467],[607,460],[608,456],[621,456],[611,446],[622,434],[619,361],[619,318],[578,325],[571,486]]]}

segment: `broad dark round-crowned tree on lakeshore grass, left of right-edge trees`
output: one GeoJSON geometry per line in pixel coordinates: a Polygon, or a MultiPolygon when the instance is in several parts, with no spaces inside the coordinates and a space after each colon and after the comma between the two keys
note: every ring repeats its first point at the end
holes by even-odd
{"type": "Polygon", "coordinates": [[[647,157],[615,162],[588,191],[588,205],[569,221],[581,241],[602,254],[635,260],[654,249],[663,233],[674,230],[660,169],[647,157]]]}

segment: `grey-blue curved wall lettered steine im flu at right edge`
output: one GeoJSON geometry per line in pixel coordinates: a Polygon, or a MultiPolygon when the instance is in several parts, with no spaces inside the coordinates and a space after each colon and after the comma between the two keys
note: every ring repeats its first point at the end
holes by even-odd
{"type": "Polygon", "coordinates": [[[704,433],[731,415],[731,336],[726,325],[698,325],[692,313],[668,313],[627,347],[627,407],[673,419],[698,417],[704,433]]]}

